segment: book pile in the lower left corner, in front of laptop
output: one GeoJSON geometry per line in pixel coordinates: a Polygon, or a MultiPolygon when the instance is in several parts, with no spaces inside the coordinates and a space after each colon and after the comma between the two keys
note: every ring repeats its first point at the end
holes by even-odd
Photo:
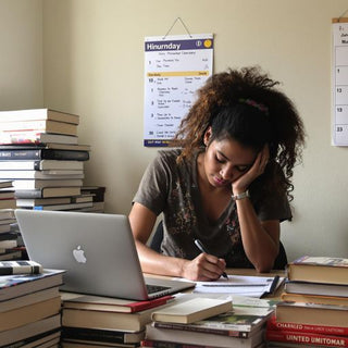
{"type": "Polygon", "coordinates": [[[53,270],[0,276],[1,347],[58,347],[62,277],[62,271],[53,270]]]}

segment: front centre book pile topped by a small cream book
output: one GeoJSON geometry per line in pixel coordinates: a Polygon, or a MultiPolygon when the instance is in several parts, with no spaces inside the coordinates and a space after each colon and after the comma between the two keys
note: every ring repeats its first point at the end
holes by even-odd
{"type": "MultiPolygon", "coordinates": [[[[187,297],[190,298],[189,295],[187,297]]],[[[235,297],[232,306],[228,296],[210,299],[196,295],[191,300],[178,303],[176,308],[169,307],[153,312],[153,322],[147,324],[146,338],[141,340],[141,346],[263,347],[265,323],[273,313],[274,306],[270,307],[266,300],[244,297],[238,297],[236,302],[237,304],[235,297]],[[201,319],[197,319],[198,316],[201,319]]]]}

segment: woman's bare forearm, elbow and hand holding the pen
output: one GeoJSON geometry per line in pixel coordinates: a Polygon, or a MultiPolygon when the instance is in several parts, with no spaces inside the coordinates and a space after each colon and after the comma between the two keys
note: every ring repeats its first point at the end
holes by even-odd
{"type": "Polygon", "coordinates": [[[225,262],[214,256],[201,253],[194,260],[163,256],[146,246],[154,226],[156,214],[140,203],[134,203],[129,222],[142,272],[185,277],[191,281],[217,279],[225,271],[225,262]]]}

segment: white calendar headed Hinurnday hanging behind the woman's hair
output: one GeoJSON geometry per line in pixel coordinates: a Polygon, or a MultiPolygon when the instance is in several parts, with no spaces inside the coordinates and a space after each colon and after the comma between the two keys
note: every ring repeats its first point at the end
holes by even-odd
{"type": "Polygon", "coordinates": [[[145,146],[167,146],[212,67],[212,34],[145,38],[145,146]]]}

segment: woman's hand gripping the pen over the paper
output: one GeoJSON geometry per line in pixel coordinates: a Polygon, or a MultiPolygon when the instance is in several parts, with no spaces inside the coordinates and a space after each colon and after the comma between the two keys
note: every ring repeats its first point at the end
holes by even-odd
{"type": "Polygon", "coordinates": [[[212,254],[202,252],[194,260],[185,260],[182,276],[189,281],[216,281],[225,272],[226,262],[212,254]]]}

